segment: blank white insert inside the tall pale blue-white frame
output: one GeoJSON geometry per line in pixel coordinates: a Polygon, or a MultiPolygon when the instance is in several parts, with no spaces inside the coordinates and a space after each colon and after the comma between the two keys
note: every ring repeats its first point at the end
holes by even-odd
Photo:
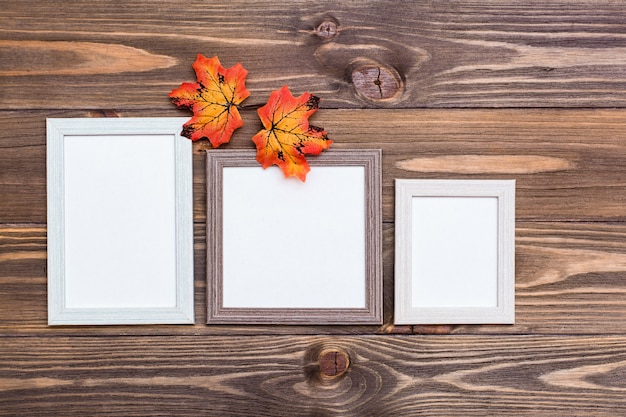
{"type": "Polygon", "coordinates": [[[66,307],[175,306],[174,137],[64,141],[66,307]]]}

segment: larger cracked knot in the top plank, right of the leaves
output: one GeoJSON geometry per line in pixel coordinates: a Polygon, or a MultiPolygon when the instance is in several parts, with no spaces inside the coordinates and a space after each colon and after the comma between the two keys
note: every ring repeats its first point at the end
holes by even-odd
{"type": "Polygon", "coordinates": [[[359,94],[374,101],[391,99],[402,87],[400,75],[394,68],[372,64],[355,68],[352,83],[359,94]]]}

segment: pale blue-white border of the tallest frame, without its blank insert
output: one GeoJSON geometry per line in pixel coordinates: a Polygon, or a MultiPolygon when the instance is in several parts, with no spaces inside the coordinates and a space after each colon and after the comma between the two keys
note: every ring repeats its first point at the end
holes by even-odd
{"type": "Polygon", "coordinates": [[[193,324],[193,176],[186,118],[47,119],[48,324],[193,324]],[[159,308],[68,308],[65,302],[64,139],[66,136],[172,135],[175,138],[176,305],[159,308]]]}

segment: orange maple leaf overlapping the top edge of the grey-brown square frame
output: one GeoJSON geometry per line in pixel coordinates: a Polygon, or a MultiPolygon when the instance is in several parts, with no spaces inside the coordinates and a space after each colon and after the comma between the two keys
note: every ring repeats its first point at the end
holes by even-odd
{"type": "Polygon", "coordinates": [[[324,129],[309,125],[309,116],[318,108],[317,96],[304,93],[296,98],[287,86],[270,94],[257,111],[265,129],[252,138],[263,168],[278,165],[285,177],[306,180],[311,168],[305,155],[318,155],[333,143],[324,129]]]}

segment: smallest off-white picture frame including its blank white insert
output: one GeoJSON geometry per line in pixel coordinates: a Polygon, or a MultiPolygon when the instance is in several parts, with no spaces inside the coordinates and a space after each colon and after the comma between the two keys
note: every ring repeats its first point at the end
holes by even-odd
{"type": "Polygon", "coordinates": [[[515,181],[396,179],[395,324],[513,324],[515,181]]]}

